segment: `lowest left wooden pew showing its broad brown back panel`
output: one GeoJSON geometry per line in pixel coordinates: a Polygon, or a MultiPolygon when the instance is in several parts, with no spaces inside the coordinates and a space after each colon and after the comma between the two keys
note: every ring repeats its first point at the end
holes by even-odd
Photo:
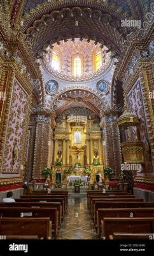
{"type": "Polygon", "coordinates": [[[51,239],[50,218],[0,218],[1,236],[38,236],[51,239]]]}

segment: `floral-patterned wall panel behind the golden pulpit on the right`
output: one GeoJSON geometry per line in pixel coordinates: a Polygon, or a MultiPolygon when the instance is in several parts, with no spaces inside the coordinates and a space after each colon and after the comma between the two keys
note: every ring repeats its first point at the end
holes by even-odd
{"type": "MultiPolygon", "coordinates": [[[[146,172],[153,172],[151,165],[150,143],[148,140],[148,131],[146,127],[146,115],[144,112],[143,93],[141,87],[141,81],[138,79],[132,89],[127,95],[129,111],[138,116],[140,119],[140,131],[141,141],[143,141],[144,157],[145,157],[145,170],[146,172]]],[[[134,130],[132,130],[133,137],[135,136],[134,130]]]]}

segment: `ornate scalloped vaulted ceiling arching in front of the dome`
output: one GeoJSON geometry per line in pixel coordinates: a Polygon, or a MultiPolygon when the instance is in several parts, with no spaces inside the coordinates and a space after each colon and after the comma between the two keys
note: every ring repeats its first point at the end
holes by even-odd
{"type": "Polygon", "coordinates": [[[25,1],[19,22],[37,54],[46,45],[68,38],[87,38],[120,54],[126,36],[136,28],[122,19],[142,19],[151,0],[38,0],[25,1]],[[76,23],[77,22],[77,23],[76,23]]]}

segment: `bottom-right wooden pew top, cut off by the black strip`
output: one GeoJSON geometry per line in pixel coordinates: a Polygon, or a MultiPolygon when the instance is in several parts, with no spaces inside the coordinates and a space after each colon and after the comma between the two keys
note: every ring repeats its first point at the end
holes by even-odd
{"type": "Polygon", "coordinates": [[[113,235],[109,236],[109,239],[120,239],[120,240],[134,240],[134,239],[148,239],[151,240],[153,237],[153,233],[113,233],[113,235]]]}

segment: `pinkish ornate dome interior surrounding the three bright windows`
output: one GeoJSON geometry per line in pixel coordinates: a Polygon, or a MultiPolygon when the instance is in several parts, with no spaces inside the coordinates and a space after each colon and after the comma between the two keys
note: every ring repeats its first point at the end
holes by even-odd
{"type": "Polygon", "coordinates": [[[67,81],[87,81],[94,77],[100,76],[106,71],[111,64],[111,52],[108,52],[106,46],[101,47],[100,43],[95,43],[93,40],[87,42],[86,38],[74,38],[74,40],[60,41],[46,48],[46,53],[43,54],[43,67],[51,74],[60,79],[67,81]],[[59,67],[57,70],[52,63],[52,52],[59,54],[59,67]],[[94,71],[95,54],[101,54],[101,67],[94,71]],[[81,58],[81,76],[74,76],[73,74],[73,58],[79,56],[81,58]]]}

